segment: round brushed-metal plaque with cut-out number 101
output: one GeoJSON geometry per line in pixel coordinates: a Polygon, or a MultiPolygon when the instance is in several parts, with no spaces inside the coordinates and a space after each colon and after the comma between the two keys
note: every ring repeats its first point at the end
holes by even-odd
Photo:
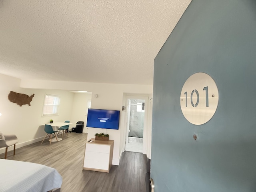
{"type": "Polygon", "coordinates": [[[215,81],[206,73],[195,73],[184,83],[180,107],[186,120],[194,125],[208,122],[216,112],[219,92],[215,81]]]}

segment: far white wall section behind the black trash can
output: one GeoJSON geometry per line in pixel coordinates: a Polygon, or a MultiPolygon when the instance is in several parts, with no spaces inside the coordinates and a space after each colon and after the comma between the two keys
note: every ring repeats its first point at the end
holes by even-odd
{"type": "Polygon", "coordinates": [[[72,122],[74,124],[71,127],[75,127],[78,121],[84,122],[84,133],[87,133],[86,122],[87,122],[87,101],[92,99],[92,94],[88,93],[75,93],[74,102],[72,108],[72,122]]]}

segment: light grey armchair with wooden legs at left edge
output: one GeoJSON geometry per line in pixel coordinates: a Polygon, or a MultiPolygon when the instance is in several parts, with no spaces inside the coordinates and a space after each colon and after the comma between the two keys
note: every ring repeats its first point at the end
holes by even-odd
{"type": "Polygon", "coordinates": [[[13,155],[15,155],[16,143],[18,143],[18,138],[16,137],[16,135],[3,135],[0,132],[0,148],[5,147],[5,156],[4,156],[5,159],[7,157],[7,149],[12,145],[14,145],[13,155]]]}

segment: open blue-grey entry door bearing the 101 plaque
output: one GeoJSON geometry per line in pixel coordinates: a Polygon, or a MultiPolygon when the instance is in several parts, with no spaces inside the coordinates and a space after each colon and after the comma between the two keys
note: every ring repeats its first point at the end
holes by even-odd
{"type": "Polygon", "coordinates": [[[255,192],[256,1],[192,0],[154,60],[153,89],[155,192],[255,192]],[[197,72],[219,91],[203,125],[180,108],[182,86],[197,72]]]}

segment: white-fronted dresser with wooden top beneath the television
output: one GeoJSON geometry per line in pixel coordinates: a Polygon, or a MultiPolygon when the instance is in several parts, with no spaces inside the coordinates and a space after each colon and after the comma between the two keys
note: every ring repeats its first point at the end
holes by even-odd
{"type": "Polygon", "coordinates": [[[93,142],[85,143],[83,169],[108,173],[112,166],[114,141],[90,140],[93,142]]]}

